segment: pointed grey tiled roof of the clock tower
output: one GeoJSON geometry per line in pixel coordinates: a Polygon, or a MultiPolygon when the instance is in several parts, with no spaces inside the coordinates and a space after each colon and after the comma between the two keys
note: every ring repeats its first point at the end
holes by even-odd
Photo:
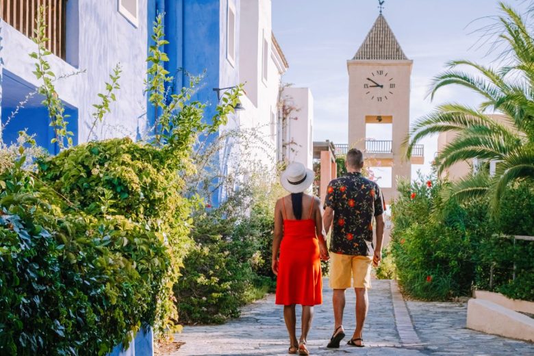
{"type": "Polygon", "coordinates": [[[354,55],[353,60],[407,60],[395,35],[382,14],[354,55]]]}

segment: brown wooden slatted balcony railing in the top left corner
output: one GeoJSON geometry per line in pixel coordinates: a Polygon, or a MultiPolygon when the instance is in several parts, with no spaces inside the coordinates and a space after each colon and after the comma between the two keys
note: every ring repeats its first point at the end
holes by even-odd
{"type": "Polygon", "coordinates": [[[49,38],[47,49],[65,59],[65,23],[67,0],[0,0],[0,15],[6,23],[28,38],[34,36],[39,6],[44,6],[44,22],[49,38]]]}

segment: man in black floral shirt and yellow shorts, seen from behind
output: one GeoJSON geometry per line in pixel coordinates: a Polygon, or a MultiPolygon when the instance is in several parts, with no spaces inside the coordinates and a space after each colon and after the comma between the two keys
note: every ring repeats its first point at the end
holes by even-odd
{"type": "Polygon", "coordinates": [[[383,198],[377,183],[364,178],[361,168],[364,155],[351,149],[346,155],[347,174],[329,183],[325,199],[323,225],[326,233],[333,225],[330,239],[330,287],[333,289],[334,333],[327,347],[340,347],[345,337],[343,309],[345,290],[356,292],[356,329],[347,343],[363,347],[361,332],[368,309],[367,289],[371,287],[371,262],[378,266],[382,259],[384,230],[383,198]],[[377,245],[372,244],[372,221],[377,222],[377,245]],[[333,224],[332,224],[333,223],[333,224]]]}

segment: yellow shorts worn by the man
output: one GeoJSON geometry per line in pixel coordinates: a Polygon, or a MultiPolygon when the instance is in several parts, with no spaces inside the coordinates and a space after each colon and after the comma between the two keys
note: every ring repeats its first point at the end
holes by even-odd
{"type": "Polygon", "coordinates": [[[330,253],[330,288],[371,288],[372,256],[352,256],[330,253]]]}

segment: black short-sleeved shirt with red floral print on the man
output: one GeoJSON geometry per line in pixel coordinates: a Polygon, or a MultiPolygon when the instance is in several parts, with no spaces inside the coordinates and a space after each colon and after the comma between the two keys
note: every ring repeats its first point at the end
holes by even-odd
{"type": "Polygon", "coordinates": [[[385,210],[377,183],[361,173],[346,173],[329,183],[325,206],[334,211],[330,251],[372,255],[373,218],[385,210]]]}

